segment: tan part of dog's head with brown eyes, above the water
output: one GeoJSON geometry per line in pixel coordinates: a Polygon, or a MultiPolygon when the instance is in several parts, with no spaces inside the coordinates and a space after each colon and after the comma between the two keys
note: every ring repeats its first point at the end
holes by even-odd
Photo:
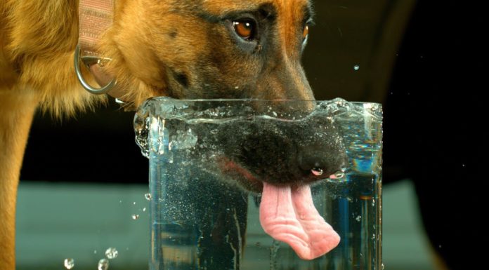
{"type": "Polygon", "coordinates": [[[308,0],[117,1],[102,41],[126,100],[313,100],[301,66],[308,0]],[[138,86],[138,87],[134,87],[138,86]]]}

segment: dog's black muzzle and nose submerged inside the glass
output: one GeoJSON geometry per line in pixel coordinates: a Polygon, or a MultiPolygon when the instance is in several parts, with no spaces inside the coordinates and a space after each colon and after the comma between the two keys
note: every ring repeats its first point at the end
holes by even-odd
{"type": "Polygon", "coordinates": [[[233,177],[253,191],[261,191],[261,182],[293,185],[339,178],[347,164],[339,129],[324,115],[234,121],[221,128],[219,141],[228,167],[236,172],[233,177]]]}

